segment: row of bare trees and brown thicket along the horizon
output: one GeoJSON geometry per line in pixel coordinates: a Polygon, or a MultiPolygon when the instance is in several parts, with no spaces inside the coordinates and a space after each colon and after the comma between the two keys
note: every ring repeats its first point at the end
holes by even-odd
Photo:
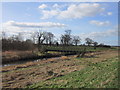
{"type": "MultiPolygon", "coordinates": [[[[33,50],[37,46],[41,45],[61,45],[61,46],[69,46],[69,45],[80,45],[81,38],[80,36],[74,36],[71,34],[71,30],[65,30],[65,33],[60,36],[59,39],[56,40],[55,35],[51,32],[41,32],[37,31],[31,34],[30,39],[23,40],[21,33],[18,35],[12,35],[7,38],[6,32],[2,32],[2,50],[33,50]]],[[[107,46],[104,44],[98,44],[98,42],[93,41],[90,38],[85,39],[85,44],[88,46],[107,46]]]]}

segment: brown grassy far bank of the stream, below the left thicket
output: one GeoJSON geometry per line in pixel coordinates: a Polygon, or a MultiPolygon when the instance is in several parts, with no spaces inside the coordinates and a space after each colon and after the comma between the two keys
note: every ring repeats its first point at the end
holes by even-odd
{"type": "Polygon", "coordinates": [[[59,52],[48,52],[42,54],[38,51],[5,51],[2,52],[2,63],[8,64],[18,61],[30,61],[43,58],[52,58],[62,55],[63,53],[59,52]]]}

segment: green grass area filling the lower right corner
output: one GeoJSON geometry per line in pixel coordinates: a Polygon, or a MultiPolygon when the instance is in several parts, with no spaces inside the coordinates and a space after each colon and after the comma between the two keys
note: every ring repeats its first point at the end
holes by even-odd
{"type": "Polygon", "coordinates": [[[42,81],[27,88],[118,88],[118,57],[89,63],[81,71],[42,81]]]}

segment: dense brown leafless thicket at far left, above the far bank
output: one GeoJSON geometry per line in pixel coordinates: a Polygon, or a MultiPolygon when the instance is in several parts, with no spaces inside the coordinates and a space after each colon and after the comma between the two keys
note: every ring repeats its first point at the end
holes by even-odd
{"type": "Polygon", "coordinates": [[[2,39],[2,50],[32,50],[34,48],[33,43],[30,43],[30,40],[23,41],[22,38],[18,34],[2,39]]]}

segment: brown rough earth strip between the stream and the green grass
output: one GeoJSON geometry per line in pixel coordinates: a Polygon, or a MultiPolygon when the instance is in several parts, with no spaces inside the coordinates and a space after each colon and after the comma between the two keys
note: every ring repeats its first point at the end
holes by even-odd
{"type": "Polygon", "coordinates": [[[2,69],[3,87],[23,88],[42,80],[48,80],[73,71],[79,71],[90,62],[97,63],[115,56],[118,56],[118,52],[109,50],[86,54],[86,56],[80,60],[77,59],[76,56],[62,56],[58,59],[47,59],[34,63],[29,62],[26,64],[4,67],[2,69]]]}

